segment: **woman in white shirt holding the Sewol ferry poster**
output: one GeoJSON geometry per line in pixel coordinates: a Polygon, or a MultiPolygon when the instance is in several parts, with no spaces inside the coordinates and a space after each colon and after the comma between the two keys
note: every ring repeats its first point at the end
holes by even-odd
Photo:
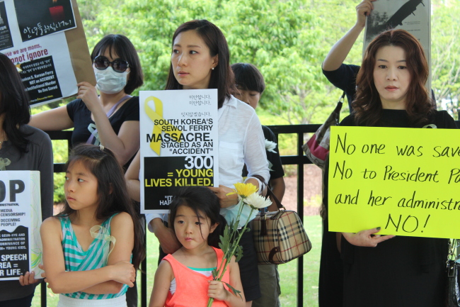
{"type": "MultiPolygon", "coordinates": [[[[219,197],[221,214],[227,221],[236,216],[238,198],[227,196],[233,184],[242,182],[243,165],[248,177],[260,189],[255,177],[269,178],[265,143],[260,121],[251,106],[231,96],[234,74],[230,68],[230,52],[222,31],[206,20],[183,23],[173,35],[171,67],[166,89],[218,89],[219,102],[219,183],[210,187],[219,197]]],[[[133,199],[139,201],[139,153],[127,170],[126,178],[133,199]]],[[[163,225],[161,216],[148,215],[149,230],[155,233],[163,252],[172,253],[180,247],[175,236],[163,225]]],[[[260,297],[257,257],[252,233],[245,233],[240,242],[243,258],[238,262],[247,306],[260,297]]]]}

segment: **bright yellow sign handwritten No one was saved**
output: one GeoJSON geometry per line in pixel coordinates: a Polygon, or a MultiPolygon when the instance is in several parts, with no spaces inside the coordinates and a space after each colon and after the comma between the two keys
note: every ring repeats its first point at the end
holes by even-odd
{"type": "Polygon", "coordinates": [[[460,238],[460,130],[332,127],[329,230],[460,238]]]}

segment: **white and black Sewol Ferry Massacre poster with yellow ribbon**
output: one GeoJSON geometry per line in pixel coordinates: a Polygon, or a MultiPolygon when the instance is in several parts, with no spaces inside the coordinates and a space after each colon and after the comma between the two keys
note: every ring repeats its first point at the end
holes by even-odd
{"type": "Polygon", "coordinates": [[[140,91],[141,212],[167,213],[181,186],[219,186],[217,89],[140,91]]]}

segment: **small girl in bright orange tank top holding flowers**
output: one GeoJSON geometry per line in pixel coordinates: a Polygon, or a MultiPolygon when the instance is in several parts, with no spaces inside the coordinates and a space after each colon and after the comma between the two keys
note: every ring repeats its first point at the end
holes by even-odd
{"type": "Polygon", "coordinates": [[[226,225],[214,192],[205,186],[184,187],[169,208],[170,225],[182,247],[160,262],[149,307],[207,306],[210,297],[215,307],[246,306],[235,257],[222,281],[241,291],[242,298],[222,281],[212,280],[212,269],[220,266],[224,256],[216,247],[226,225]]]}

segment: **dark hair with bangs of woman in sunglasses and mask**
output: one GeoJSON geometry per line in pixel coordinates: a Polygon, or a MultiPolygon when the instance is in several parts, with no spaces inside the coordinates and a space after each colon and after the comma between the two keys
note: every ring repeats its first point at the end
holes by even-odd
{"type": "Polygon", "coordinates": [[[130,73],[128,74],[125,93],[131,94],[134,89],[144,84],[141,62],[137,56],[136,48],[134,48],[131,40],[125,35],[109,34],[104,36],[104,38],[99,40],[99,43],[96,44],[93,52],[91,52],[91,61],[98,55],[102,55],[107,49],[109,50],[110,57],[112,57],[112,52],[115,52],[120,59],[127,61],[130,65],[130,73]]]}

